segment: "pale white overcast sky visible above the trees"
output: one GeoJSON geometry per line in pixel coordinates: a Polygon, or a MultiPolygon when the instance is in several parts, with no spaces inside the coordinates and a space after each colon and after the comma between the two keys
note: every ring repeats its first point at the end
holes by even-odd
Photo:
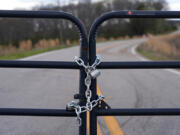
{"type": "MultiPolygon", "coordinates": [[[[53,3],[57,0],[0,0],[0,9],[31,9],[35,5],[53,3]]],[[[68,3],[71,0],[60,0],[68,3]]],[[[95,0],[94,0],[95,1],[95,0]]],[[[180,0],[167,0],[170,10],[180,10],[180,0]]]]}

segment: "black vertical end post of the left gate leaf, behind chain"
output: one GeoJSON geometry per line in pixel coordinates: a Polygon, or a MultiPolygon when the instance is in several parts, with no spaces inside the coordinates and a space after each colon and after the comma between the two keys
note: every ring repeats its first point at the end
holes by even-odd
{"type": "MultiPolygon", "coordinates": [[[[82,35],[83,36],[83,35],[82,35]]],[[[84,35],[83,38],[81,38],[81,45],[80,45],[80,57],[84,61],[84,63],[87,65],[88,63],[88,42],[87,37],[84,35]]],[[[79,82],[79,94],[83,95],[85,97],[85,91],[86,91],[86,85],[85,85],[85,78],[86,78],[86,72],[84,68],[80,68],[80,82],[79,82]]],[[[80,99],[79,104],[81,106],[86,105],[85,99],[80,99]]],[[[87,120],[86,120],[87,113],[84,112],[81,114],[82,119],[82,125],[79,127],[79,135],[86,135],[87,133],[87,120]]]]}

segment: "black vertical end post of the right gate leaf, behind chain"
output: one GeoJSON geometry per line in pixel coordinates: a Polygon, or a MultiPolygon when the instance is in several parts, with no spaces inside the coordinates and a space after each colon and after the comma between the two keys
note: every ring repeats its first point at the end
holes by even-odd
{"type": "MultiPolygon", "coordinates": [[[[92,65],[96,59],[96,42],[94,39],[89,39],[89,64],[90,65],[92,65]]],[[[92,90],[91,100],[95,100],[97,98],[96,84],[97,84],[97,79],[93,79],[91,83],[91,90],[92,90]]],[[[93,110],[90,112],[90,135],[97,135],[96,110],[97,110],[97,107],[93,108],[93,110]]]]}

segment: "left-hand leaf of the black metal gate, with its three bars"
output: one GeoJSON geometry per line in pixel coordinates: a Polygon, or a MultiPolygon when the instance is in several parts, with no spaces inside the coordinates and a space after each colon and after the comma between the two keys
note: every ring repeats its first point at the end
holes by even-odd
{"type": "MultiPolygon", "coordinates": [[[[74,17],[72,14],[66,12],[58,11],[18,11],[18,10],[0,10],[0,17],[10,17],[10,18],[46,18],[46,19],[66,19],[73,22],[79,32],[80,32],[80,57],[85,64],[88,62],[88,42],[87,33],[83,23],[74,17]]],[[[36,61],[0,61],[0,67],[21,67],[21,68],[69,68],[77,69],[77,64],[75,62],[36,62],[36,61]]],[[[79,66],[78,66],[79,67],[79,66]]],[[[80,67],[79,67],[80,68],[80,67]]],[[[84,79],[86,73],[83,68],[80,68],[80,82],[79,82],[79,93],[84,94],[86,86],[84,84],[84,79]]],[[[85,105],[86,102],[80,99],[80,105],[85,105]]],[[[0,109],[0,115],[33,115],[33,116],[75,116],[74,112],[67,112],[66,110],[44,110],[38,109],[0,109]]],[[[86,113],[81,114],[82,125],[79,128],[79,135],[86,134],[86,113]]]]}

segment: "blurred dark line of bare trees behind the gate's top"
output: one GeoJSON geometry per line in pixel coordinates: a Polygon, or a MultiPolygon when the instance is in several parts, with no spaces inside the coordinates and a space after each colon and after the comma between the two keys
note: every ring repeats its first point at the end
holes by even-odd
{"type": "MultiPolygon", "coordinates": [[[[89,30],[92,22],[102,13],[112,10],[166,10],[165,0],[114,0],[98,3],[79,3],[66,6],[46,5],[33,10],[56,10],[70,12],[80,18],[89,30]]],[[[176,26],[163,19],[113,19],[105,22],[98,32],[98,37],[110,39],[143,34],[160,34],[176,29],[176,26]]],[[[0,18],[0,45],[18,47],[21,41],[30,40],[35,45],[42,39],[79,40],[77,28],[66,20],[54,19],[11,19],[0,18]]]]}

